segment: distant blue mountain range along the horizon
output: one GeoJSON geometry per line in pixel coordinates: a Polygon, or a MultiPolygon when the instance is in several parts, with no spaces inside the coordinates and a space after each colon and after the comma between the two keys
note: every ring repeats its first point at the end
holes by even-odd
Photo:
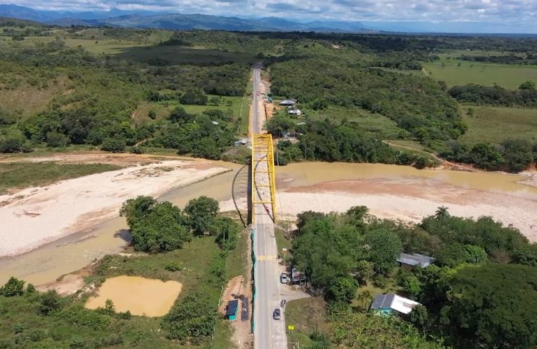
{"type": "Polygon", "coordinates": [[[155,13],[148,11],[124,11],[113,9],[107,12],[61,12],[34,10],[24,6],[1,5],[0,17],[32,20],[43,24],[70,27],[111,26],[123,28],[157,29],[207,29],[235,31],[367,31],[360,22],[314,21],[293,22],[278,17],[244,19],[214,15],[185,15],[181,13],[155,13]]]}

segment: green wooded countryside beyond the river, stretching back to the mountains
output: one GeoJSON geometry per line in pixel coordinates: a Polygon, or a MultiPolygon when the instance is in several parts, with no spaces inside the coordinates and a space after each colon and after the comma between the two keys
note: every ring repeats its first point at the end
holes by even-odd
{"type": "MultiPolygon", "coordinates": [[[[532,81],[521,81],[518,91],[479,85],[448,90],[446,83],[421,73],[424,64],[443,62],[452,50],[496,50],[531,59],[537,46],[531,38],[5,25],[8,30],[0,36],[17,39],[0,42],[0,68],[6,72],[0,77],[1,152],[84,144],[133,153],[165,147],[179,154],[230,159],[226,153],[233,152],[235,136],[247,133],[240,111],[247,104],[240,97],[247,92],[251,64],[259,60],[270,73],[273,94],[297,98],[307,115],[307,126],[297,130],[307,131],[301,151],[280,149],[284,163],[314,159],[434,165],[423,153],[400,154],[381,140],[411,140],[426,151],[445,154],[468,130],[457,101],[521,107],[537,103],[532,81]],[[224,106],[223,97],[239,99],[227,99],[224,106]],[[327,124],[316,123],[325,118],[327,124]],[[374,119],[377,127],[372,127],[374,119]],[[328,130],[321,131],[323,126],[328,130]],[[337,144],[331,139],[336,134],[344,138],[337,144]]],[[[471,52],[464,57],[495,56],[471,52]]],[[[280,125],[277,133],[282,129],[280,125]]],[[[470,149],[473,145],[466,144],[470,149]]],[[[504,158],[515,156],[508,147],[502,151],[504,158]]],[[[465,161],[490,169],[472,156],[465,161]]]]}

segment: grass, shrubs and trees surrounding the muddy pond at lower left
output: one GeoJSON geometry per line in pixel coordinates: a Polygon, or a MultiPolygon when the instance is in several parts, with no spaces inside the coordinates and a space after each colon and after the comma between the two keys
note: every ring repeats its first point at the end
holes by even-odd
{"type": "Polygon", "coordinates": [[[218,202],[206,197],[191,200],[184,211],[147,197],[128,200],[122,209],[134,228],[128,249],[149,254],[107,255],[87,276],[96,285],[120,275],[179,281],[182,293],[163,318],[118,313],[112,302],[85,309],[87,294],[36,292],[33,285],[12,278],[0,288],[0,347],[207,348],[215,329],[225,343],[230,331],[216,312],[221,289],[228,276],[244,271],[227,267],[228,262],[236,267],[237,253],[242,253],[235,251],[240,226],[216,215],[215,208],[218,202]]]}

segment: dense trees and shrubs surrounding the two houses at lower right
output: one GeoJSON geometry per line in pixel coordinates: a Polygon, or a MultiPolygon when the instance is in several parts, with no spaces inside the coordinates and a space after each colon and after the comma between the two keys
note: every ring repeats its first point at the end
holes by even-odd
{"type": "Polygon", "coordinates": [[[440,338],[455,348],[537,345],[532,320],[537,313],[531,306],[536,245],[490,217],[459,218],[440,207],[434,216],[408,226],[369,216],[366,207],[353,207],[346,214],[309,211],[298,217],[292,251],[293,262],[322,292],[334,314],[329,319],[332,329],[339,329],[330,334],[334,343],[359,340],[365,346],[374,341],[372,326],[393,332],[392,340],[411,340],[416,330],[427,334],[427,344],[402,344],[412,348],[440,346],[440,338]],[[434,265],[397,268],[402,251],[432,255],[434,265]],[[402,334],[400,320],[376,323],[362,313],[372,297],[370,283],[423,305],[406,318],[415,329],[402,334]],[[388,286],[392,283],[397,287],[388,286]],[[357,321],[359,339],[348,332],[354,327],[358,331],[352,325],[357,321]]]}

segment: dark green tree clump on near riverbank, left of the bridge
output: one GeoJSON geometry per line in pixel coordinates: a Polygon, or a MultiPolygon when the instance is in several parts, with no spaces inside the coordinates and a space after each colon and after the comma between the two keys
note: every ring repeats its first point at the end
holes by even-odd
{"type": "Polygon", "coordinates": [[[218,211],[218,201],[206,196],[190,200],[184,211],[170,202],[139,196],[126,200],[120,215],[126,217],[136,251],[173,251],[193,235],[215,235],[223,250],[233,250],[239,226],[231,218],[217,216],[218,211]]]}

